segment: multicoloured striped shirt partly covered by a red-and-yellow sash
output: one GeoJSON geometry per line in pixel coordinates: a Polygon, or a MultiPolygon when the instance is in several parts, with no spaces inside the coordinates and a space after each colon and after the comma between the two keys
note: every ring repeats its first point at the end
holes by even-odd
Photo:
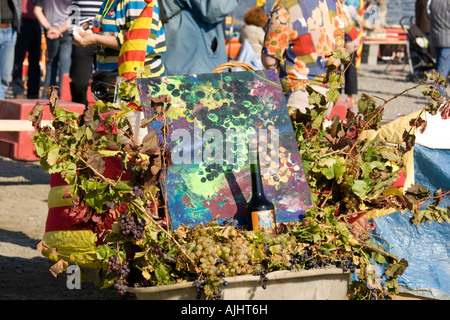
{"type": "MultiPolygon", "coordinates": [[[[100,21],[103,34],[115,35],[119,45],[122,47],[125,33],[130,29],[133,21],[145,8],[143,0],[116,0],[109,10],[108,2],[105,1],[100,8],[96,20],[100,21]]],[[[153,2],[152,24],[147,41],[147,56],[145,62],[150,65],[151,73],[158,76],[164,73],[161,55],[166,51],[166,43],[162,22],[159,19],[158,1],[153,2]]],[[[111,48],[101,48],[97,54],[97,68],[99,70],[117,70],[119,51],[111,48]]]]}

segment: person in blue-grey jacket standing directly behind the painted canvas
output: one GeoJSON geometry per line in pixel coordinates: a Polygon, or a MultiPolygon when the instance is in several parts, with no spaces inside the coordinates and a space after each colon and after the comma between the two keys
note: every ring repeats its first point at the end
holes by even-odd
{"type": "Polygon", "coordinates": [[[163,0],[168,75],[211,73],[227,62],[222,22],[239,0],[163,0]]]}

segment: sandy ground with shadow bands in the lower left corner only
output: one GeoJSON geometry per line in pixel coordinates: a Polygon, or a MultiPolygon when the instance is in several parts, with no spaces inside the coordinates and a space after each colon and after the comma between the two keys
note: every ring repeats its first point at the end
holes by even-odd
{"type": "Polygon", "coordinates": [[[90,283],[70,290],[65,273],[50,273],[53,263],[36,249],[49,190],[49,175],[38,162],[0,157],[0,300],[120,299],[90,283]]]}

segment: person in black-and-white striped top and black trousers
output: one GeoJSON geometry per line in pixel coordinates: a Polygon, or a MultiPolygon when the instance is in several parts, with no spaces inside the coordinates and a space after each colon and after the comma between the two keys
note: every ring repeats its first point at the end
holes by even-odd
{"type": "MultiPolygon", "coordinates": [[[[91,19],[92,24],[99,12],[103,0],[73,0],[72,5],[79,8],[79,20],[91,19]]],[[[95,70],[97,47],[72,46],[72,63],[70,66],[70,94],[73,102],[88,105],[87,89],[93,70],[95,70]]]]}

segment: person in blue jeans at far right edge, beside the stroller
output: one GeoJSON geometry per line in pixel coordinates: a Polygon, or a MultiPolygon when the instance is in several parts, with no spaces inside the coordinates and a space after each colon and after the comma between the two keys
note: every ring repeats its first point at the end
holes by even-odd
{"type": "MultiPolygon", "coordinates": [[[[432,0],[430,10],[430,37],[436,55],[436,71],[444,78],[450,72],[450,1],[432,0]]],[[[438,88],[442,95],[445,88],[438,88]]]]}

